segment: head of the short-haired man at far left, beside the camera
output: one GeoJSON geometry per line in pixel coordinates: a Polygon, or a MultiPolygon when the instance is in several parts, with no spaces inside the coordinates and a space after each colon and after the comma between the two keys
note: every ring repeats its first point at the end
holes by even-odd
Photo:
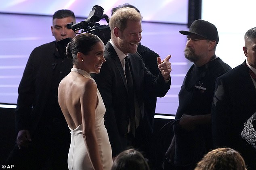
{"type": "Polygon", "coordinates": [[[70,23],[76,23],[75,14],[71,10],[61,9],[53,14],[51,31],[56,41],[76,36],[72,29],[67,29],[67,24],[70,23]]]}

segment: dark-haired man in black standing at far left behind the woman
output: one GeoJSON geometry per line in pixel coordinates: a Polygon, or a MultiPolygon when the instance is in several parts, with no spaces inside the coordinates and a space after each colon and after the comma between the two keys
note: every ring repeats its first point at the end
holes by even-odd
{"type": "Polygon", "coordinates": [[[39,170],[46,162],[55,170],[68,169],[70,130],[58,104],[57,90],[73,66],[60,53],[69,38],[76,36],[67,29],[71,22],[76,23],[72,11],[55,12],[51,31],[56,41],[36,47],[27,61],[15,110],[17,141],[6,161],[15,169],[39,170]]]}

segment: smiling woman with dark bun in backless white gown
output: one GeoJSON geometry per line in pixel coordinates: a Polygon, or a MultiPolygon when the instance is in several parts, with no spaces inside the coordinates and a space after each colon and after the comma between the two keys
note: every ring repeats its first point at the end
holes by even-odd
{"type": "Polygon", "coordinates": [[[110,170],[111,145],[103,116],[105,105],[90,73],[99,73],[106,61],[99,37],[82,33],[66,47],[71,72],[60,82],[59,105],[71,130],[69,170],[110,170]]]}

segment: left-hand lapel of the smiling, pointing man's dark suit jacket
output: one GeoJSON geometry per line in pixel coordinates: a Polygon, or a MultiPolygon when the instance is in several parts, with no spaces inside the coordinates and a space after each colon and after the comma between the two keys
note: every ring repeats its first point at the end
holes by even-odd
{"type": "Polygon", "coordinates": [[[126,91],[128,92],[128,88],[127,88],[127,82],[126,82],[126,78],[125,78],[125,75],[124,75],[124,69],[122,67],[122,64],[121,64],[121,61],[120,59],[118,58],[118,55],[117,53],[115,52],[115,49],[114,47],[111,45],[111,43],[107,43],[106,44],[106,47],[107,51],[109,52],[109,56],[111,57],[111,59],[113,59],[113,62],[114,62],[114,65],[115,67],[117,67],[118,69],[118,72],[120,74],[120,76],[122,77],[122,81],[124,83],[124,86],[126,88],[126,91]],[[111,55],[112,54],[112,55],[111,55]]]}

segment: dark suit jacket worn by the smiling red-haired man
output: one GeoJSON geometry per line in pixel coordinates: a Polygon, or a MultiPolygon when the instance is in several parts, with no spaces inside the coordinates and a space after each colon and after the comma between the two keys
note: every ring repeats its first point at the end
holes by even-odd
{"type": "MultiPolygon", "coordinates": [[[[106,62],[103,63],[101,72],[99,74],[92,74],[92,78],[97,83],[106,107],[104,116],[105,126],[109,135],[112,154],[116,156],[127,147],[127,139],[125,137],[129,123],[129,115],[126,108],[128,98],[127,84],[120,59],[109,42],[105,46],[104,57],[106,62]]],[[[147,126],[146,129],[151,131],[148,117],[144,115],[143,92],[145,89],[150,89],[148,93],[152,93],[157,97],[163,97],[170,88],[170,81],[166,83],[161,73],[159,73],[158,77],[151,74],[138,53],[129,53],[129,60],[134,79],[134,92],[138,100],[143,122],[147,126]]]]}

